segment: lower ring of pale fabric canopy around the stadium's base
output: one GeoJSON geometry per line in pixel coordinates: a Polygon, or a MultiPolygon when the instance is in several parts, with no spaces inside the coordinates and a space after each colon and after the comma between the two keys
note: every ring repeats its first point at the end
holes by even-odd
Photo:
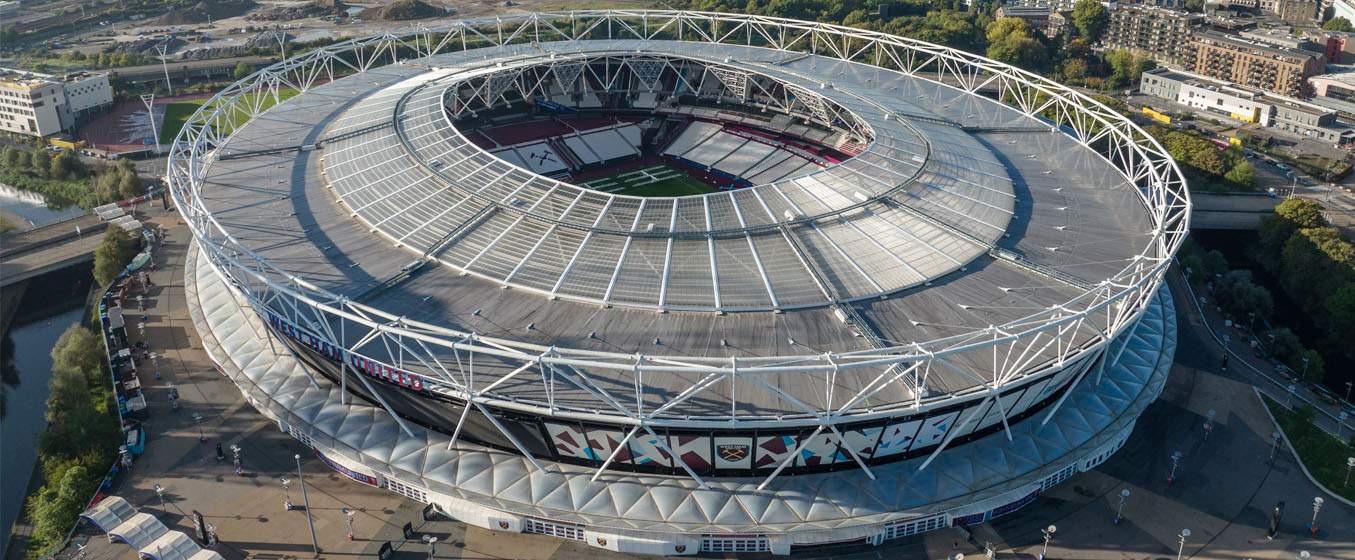
{"type": "MultiPolygon", "coordinates": [[[[194,325],[209,353],[260,411],[305,431],[327,453],[340,453],[377,472],[476,504],[522,515],[615,530],[702,533],[809,532],[912,517],[997,496],[1066,466],[1130,430],[1165,382],[1176,348],[1175,311],[1157,296],[1118,362],[1073,388],[1042,423],[1035,415],[1011,426],[1012,441],[995,434],[924,458],[860,472],[772,480],[718,479],[702,489],[688,477],[606,473],[527,460],[419,427],[406,435],[381,408],[341,404],[341,389],[312,378],[276,343],[260,339],[262,320],[229,292],[198,251],[190,252],[187,292],[194,325]]],[[[1117,343],[1118,346],[1118,343],[1117,343]]],[[[864,534],[864,533],[863,533],[864,534]]]]}

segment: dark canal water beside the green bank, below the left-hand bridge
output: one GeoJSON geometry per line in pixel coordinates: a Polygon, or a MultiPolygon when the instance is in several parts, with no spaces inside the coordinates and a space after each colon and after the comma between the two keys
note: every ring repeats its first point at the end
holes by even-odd
{"type": "Polygon", "coordinates": [[[0,342],[5,395],[0,418],[0,457],[5,466],[5,476],[0,476],[0,551],[8,546],[9,527],[23,508],[38,458],[38,434],[46,427],[51,347],[68,327],[80,323],[91,283],[88,264],[28,282],[14,325],[0,342]]]}

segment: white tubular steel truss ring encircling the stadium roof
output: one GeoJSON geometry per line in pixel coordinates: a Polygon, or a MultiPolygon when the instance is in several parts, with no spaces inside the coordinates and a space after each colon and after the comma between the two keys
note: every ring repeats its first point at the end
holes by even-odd
{"type": "MultiPolygon", "coordinates": [[[[560,85],[568,91],[583,72],[583,64],[561,64],[553,69],[560,85]]],[[[737,72],[736,72],[737,73],[737,72]]],[[[482,99],[492,103],[516,80],[518,75],[495,76],[486,81],[482,99]],[[495,92],[497,91],[497,95],[495,92]]],[[[747,76],[743,77],[747,83],[747,76]]],[[[747,94],[743,89],[740,95],[747,94]]],[[[818,115],[808,91],[795,99],[818,115]]],[[[822,115],[832,117],[832,115],[822,115]]],[[[1045,77],[977,54],[875,31],[752,15],[729,15],[683,11],[575,11],[499,15],[480,19],[443,22],[435,26],[383,33],[329,45],[291,58],[232,84],[217,94],[188,118],[172,144],[167,172],[169,193],[180,213],[210,259],[211,267],[238,294],[260,312],[272,313],[293,325],[308,328],[317,338],[344,348],[344,353],[379,347],[390,362],[402,367],[421,365],[424,373],[412,373],[427,391],[466,403],[493,419],[489,408],[520,409],[561,418],[589,419],[629,426],[629,435],[640,430],[653,435],[654,427],[762,427],[816,426],[814,434],[828,431],[841,439],[837,426],[953,405],[959,400],[999,400],[997,391],[1033,384],[1062,373],[1068,363],[1079,363],[1084,374],[1093,358],[1107,351],[1108,343],[1131,328],[1157,293],[1172,256],[1188,232],[1190,197],[1180,169],[1163,146],[1129,118],[1100,102],[1045,77]],[[1077,297],[1051,309],[1035,312],[1008,324],[935,340],[892,343],[893,346],[851,353],[775,355],[740,358],[737,362],[717,357],[642,355],[542,346],[508,338],[484,336],[442,325],[419,323],[363,305],[344,294],[317,287],[305,278],[289,274],[249,247],[238,243],[217,220],[205,202],[201,188],[211,161],[225,146],[237,123],[263,114],[264,99],[279,100],[283,89],[316,87],[346,73],[423,57],[512,43],[581,42],[600,38],[634,41],[699,41],[771,49],[787,54],[809,53],[854,62],[867,62],[889,71],[955,87],[969,95],[980,89],[997,91],[999,99],[1027,117],[1053,122],[1056,130],[1077,140],[1102,156],[1119,174],[1137,186],[1134,193],[1152,222],[1152,240],[1133,262],[1112,278],[1088,287],[1077,297]],[[262,95],[243,95],[259,92],[262,95]],[[337,328],[336,328],[337,327],[337,328]],[[1088,339],[1088,329],[1096,336],[1088,339]],[[362,342],[362,344],[358,344],[362,342]],[[1054,353],[1053,359],[1039,355],[1054,353]],[[953,357],[970,354],[991,357],[991,372],[966,372],[953,357]],[[543,401],[508,399],[495,392],[507,380],[476,376],[476,362],[516,363],[514,376],[535,372],[547,399],[543,401]],[[977,395],[919,395],[897,407],[866,408],[863,403],[892,384],[925,384],[934,367],[959,372],[984,386],[977,395]],[[778,376],[801,376],[824,385],[831,395],[833,376],[841,370],[864,369],[878,373],[875,381],[855,395],[829,399],[824,405],[799,403],[772,382],[778,376]],[[631,386],[618,392],[618,385],[602,385],[591,372],[629,374],[631,386]],[[701,381],[668,400],[645,409],[649,391],[646,376],[696,374],[701,381]],[[709,389],[737,384],[740,391],[766,391],[794,401],[802,414],[762,416],[740,411],[730,395],[728,414],[707,416],[673,415],[671,409],[694,397],[709,397],[709,389]],[[591,395],[593,407],[566,405],[554,401],[561,386],[591,395]],[[618,397],[618,393],[625,393],[618,397]],[[630,393],[634,401],[630,401],[630,393]]],[[[676,212],[676,207],[675,207],[676,212]]],[[[637,214],[638,224],[638,214],[637,214]]],[[[634,225],[633,228],[634,229],[634,225]]],[[[751,243],[751,241],[749,241],[751,243]]],[[[629,247],[629,237],[627,237],[629,247]]],[[[622,249],[625,259],[625,249],[622,249]]],[[[619,263],[618,263],[619,266],[619,263]]],[[[608,293],[611,290],[608,289],[608,293]]],[[[768,285],[768,292],[771,287],[768,285]]],[[[1118,354],[1118,353],[1117,353],[1118,354]]],[[[512,376],[509,376],[512,377],[512,376]]],[[[999,407],[1005,426],[1005,408],[999,407]]],[[[977,412],[974,412],[977,415],[977,412]]],[[[973,415],[963,423],[976,422],[973,415]]],[[[459,427],[458,427],[459,431],[459,427]]],[[[505,431],[507,434],[507,431],[505,431]]],[[[954,434],[954,433],[951,433],[954,434]]],[[[511,434],[508,434],[511,438],[511,434]]],[[[948,441],[948,439],[947,439],[948,441]]],[[[516,443],[516,442],[515,442],[516,443]]],[[[520,447],[520,446],[519,446],[520,447]]],[[[524,452],[526,454],[526,452],[524,452]]],[[[530,457],[530,454],[528,454],[530,457]]],[[[860,462],[855,454],[852,458],[860,462]]],[[[682,460],[679,466],[703,481],[682,460]]],[[[786,464],[778,466],[778,472],[786,464]]],[[[537,465],[538,468],[541,465],[537,465]]],[[[603,465],[606,466],[606,464],[603,465]]],[[[862,464],[864,466],[864,464],[862,464]]],[[[869,471],[869,469],[867,469],[869,471]]],[[[775,472],[772,473],[775,476],[775,472]]]]}

